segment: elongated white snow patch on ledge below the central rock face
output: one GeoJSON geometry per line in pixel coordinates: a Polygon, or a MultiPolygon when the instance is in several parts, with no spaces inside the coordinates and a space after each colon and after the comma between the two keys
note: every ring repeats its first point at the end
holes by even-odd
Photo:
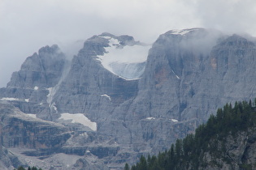
{"type": "Polygon", "coordinates": [[[80,123],[89,127],[93,131],[97,131],[97,123],[90,121],[89,118],[85,117],[83,113],[61,113],[61,117],[59,119],[63,120],[72,120],[72,123],[80,123]]]}

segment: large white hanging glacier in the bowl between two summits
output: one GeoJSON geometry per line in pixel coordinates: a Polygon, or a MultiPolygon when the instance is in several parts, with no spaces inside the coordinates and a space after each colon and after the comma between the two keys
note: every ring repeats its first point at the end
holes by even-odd
{"type": "Polygon", "coordinates": [[[109,47],[105,48],[106,53],[97,56],[97,60],[102,63],[102,66],[123,79],[140,79],[141,74],[134,70],[138,69],[140,63],[146,61],[151,45],[122,46],[119,40],[111,36],[101,37],[109,40],[109,47]]]}

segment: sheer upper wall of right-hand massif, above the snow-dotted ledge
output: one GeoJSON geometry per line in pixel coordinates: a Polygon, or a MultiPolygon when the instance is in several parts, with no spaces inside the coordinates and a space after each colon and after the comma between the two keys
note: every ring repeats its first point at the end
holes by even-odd
{"type": "Polygon", "coordinates": [[[188,31],[156,40],[128,113],[202,122],[221,104],[254,98],[254,43],[200,28],[188,31]]]}

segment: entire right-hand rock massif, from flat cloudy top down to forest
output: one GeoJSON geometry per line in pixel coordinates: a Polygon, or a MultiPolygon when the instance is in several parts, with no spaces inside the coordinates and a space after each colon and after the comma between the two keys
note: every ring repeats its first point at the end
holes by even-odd
{"type": "Polygon", "coordinates": [[[252,41],[201,28],[184,31],[159,36],[137,96],[115,108],[101,133],[137,151],[159,151],[193,132],[221,105],[256,96],[252,41]]]}

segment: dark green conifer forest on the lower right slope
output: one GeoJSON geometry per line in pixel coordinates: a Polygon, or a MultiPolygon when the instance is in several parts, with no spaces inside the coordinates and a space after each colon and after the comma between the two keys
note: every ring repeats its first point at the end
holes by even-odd
{"type": "MultiPolygon", "coordinates": [[[[205,124],[199,125],[194,134],[188,134],[183,139],[177,139],[168,151],[158,155],[141,155],[140,161],[131,167],[125,164],[125,170],[171,170],[198,169],[207,166],[202,159],[202,152],[209,152],[215,158],[223,159],[227,164],[230,159],[222,157],[226,151],[225,138],[228,134],[236,135],[238,131],[248,130],[256,126],[256,99],[225,104],[215,115],[210,115],[205,124]],[[216,149],[220,142],[221,149],[216,149]]],[[[221,164],[211,161],[211,164],[221,168],[221,164]]],[[[241,165],[241,169],[250,169],[249,165],[241,165]]]]}

